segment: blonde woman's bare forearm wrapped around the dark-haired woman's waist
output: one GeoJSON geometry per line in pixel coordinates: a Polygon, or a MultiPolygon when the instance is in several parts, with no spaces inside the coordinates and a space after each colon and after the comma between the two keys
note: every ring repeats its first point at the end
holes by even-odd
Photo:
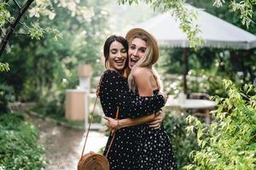
{"type": "Polygon", "coordinates": [[[148,116],[142,116],[137,119],[131,119],[131,118],[126,118],[126,119],[120,119],[119,120],[119,127],[132,127],[136,126],[139,124],[143,124],[146,122],[150,122],[154,119],[154,113],[148,116]]]}

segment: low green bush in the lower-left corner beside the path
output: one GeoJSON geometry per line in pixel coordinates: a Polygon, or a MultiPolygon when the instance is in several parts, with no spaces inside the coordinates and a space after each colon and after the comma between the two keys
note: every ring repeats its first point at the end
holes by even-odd
{"type": "Polygon", "coordinates": [[[21,114],[0,115],[0,169],[41,169],[46,160],[38,131],[21,114]]]}

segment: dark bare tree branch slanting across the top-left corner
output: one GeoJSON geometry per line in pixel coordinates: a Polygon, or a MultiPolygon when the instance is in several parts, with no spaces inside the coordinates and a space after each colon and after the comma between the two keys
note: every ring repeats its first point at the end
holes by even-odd
{"type": "Polygon", "coordinates": [[[3,40],[0,43],[0,56],[3,54],[3,50],[6,47],[7,42],[9,41],[9,38],[14,33],[15,27],[19,23],[20,18],[26,12],[27,8],[29,8],[29,6],[32,4],[33,1],[34,0],[27,0],[26,3],[22,6],[22,8],[20,8],[19,14],[17,14],[15,21],[10,24],[9,31],[7,31],[6,35],[3,37],[3,40]]]}

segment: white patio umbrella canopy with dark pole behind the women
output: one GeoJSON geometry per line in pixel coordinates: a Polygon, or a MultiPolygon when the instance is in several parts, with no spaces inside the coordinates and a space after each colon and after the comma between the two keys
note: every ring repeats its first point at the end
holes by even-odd
{"type": "MultiPolygon", "coordinates": [[[[199,37],[203,40],[201,47],[213,48],[256,48],[256,36],[242,30],[218,17],[208,14],[200,8],[187,6],[198,14],[198,24],[201,32],[199,37]]],[[[152,19],[135,26],[150,32],[159,42],[160,46],[189,48],[189,40],[185,33],[180,30],[179,22],[170,13],[159,14],[152,19]]],[[[184,92],[187,91],[186,75],[188,72],[188,56],[184,51],[185,71],[183,75],[184,92]]]]}

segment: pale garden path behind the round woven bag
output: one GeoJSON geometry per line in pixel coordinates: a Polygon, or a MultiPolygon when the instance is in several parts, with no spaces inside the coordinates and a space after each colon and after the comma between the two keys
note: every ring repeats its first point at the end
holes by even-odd
{"type": "MultiPolygon", "coordinates": [[[[58,126],[53,122],[32,117],[39,128],[40,143],[45,147],[45,155],[49,159],[47,170],[75,170],[84,145],[84,131],[58,126]]],[[[98,152],[107,143],[103,133],[90,131],[85,153],[92,150],[98,152]]]]}

